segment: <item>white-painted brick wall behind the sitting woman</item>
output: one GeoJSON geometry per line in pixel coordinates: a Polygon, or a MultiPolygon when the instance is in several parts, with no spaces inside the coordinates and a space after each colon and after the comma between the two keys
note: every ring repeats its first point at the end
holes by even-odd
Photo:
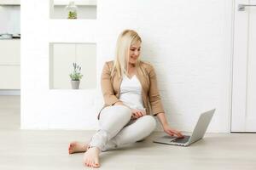
{"type": "Polygon", "coordinates": [[[99,85],[119,32],[131,28],[157,71],[172,127],[189,131],[214,107],[209,132],[230,132],[231,0],[102,0],[97,20],[72,21],[49,20],[48,2],[21,7],[21,128],[96,129],[99,88],[49,90],[49,42],[96,42],[99,85]]]}

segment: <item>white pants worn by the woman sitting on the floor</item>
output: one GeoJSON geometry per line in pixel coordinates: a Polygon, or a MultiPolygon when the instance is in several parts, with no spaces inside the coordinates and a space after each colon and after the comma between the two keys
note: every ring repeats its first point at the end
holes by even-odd
{"type": "Polygon", "coordinates": [[[154,131],[156,122],[153,116],[142,116],[131,120],[131,110],[124,105],[113,105],[101,112],[100,130],[90,139],[90,147],[111,150],[122,144],[135,143],[154,131]]]}

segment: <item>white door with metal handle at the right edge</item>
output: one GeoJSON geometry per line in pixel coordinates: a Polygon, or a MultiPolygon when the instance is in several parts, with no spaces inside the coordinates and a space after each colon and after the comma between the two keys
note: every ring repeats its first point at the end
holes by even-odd
{"type": "Polygon", "coordinates": [[[231,132],[256,132],[256,0],[235,0],[231,132]]]}

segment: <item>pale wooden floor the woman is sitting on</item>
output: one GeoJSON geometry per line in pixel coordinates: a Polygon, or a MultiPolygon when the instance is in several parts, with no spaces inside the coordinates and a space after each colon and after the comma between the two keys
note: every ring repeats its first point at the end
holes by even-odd
{"type": "MultiPolygon", "coordinates": [[[[68,142],[86,140],[90,131],[19,130],[20,97],[0,96],[0,169],[66,170],[83,167],[83,154],[67,154],[68,142]]],[[[256,134],[208,133],[189,147],[147,140],[101,155],[100,169],[255,170],[256,134]]]]}

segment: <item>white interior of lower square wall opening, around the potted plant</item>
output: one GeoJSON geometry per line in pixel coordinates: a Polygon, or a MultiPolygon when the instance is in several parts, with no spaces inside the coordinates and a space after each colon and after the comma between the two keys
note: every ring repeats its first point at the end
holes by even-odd
{"type": "Polygon", "coordinates": [[[84,77],[80,88],[96,88],[95,43],[52,43],[50,46],[50,88],[71,88],[69,74],[73,71],[73,62],[82,67],[84,77]]]}

